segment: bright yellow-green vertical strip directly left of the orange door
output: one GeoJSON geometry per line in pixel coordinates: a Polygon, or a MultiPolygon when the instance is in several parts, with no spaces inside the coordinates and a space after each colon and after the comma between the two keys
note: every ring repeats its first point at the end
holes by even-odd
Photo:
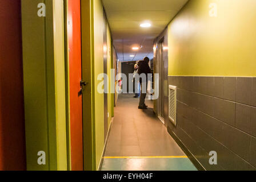
{"type": "Polygon", "coordinates": [[[65,38],[63,0],[53,1],[55,109],[58,169],[67,169],[65,38]]]}

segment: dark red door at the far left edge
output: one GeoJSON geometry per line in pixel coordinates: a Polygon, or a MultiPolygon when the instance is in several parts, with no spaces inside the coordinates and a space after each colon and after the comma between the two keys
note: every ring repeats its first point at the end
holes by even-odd
{"type": "Polygon", "coordinates": [[[26,170],[21,1],[0,1],[0,171],[26,170]]]}

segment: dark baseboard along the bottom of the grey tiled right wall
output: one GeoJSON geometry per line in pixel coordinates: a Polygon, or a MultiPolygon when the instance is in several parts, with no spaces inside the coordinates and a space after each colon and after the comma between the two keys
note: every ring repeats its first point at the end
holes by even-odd
{"type": "Polygon", "coordinates": [[[183,152],[187,155],[187,157],[191,160],[194,166],[198,169],[198,171],[206,171],[206,169],[202,166],[202,164],[195,158],[195,156],[190,152],[190,150],[185,146],[185,144],[177,137],[173,131],[171,131],[170,127],[167,127],[168,133],[173,137],[175,142],[181,147],[183,152]]]}

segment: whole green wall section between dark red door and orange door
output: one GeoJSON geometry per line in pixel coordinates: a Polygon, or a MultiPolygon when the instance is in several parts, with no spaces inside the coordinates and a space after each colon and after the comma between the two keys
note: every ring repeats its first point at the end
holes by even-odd
{"type": "Polygon", "coordinates": [[[22,46],[28,170],[66,170],[63,1],[22,0],[22,46]],[[37,15],[46,4],[46,17],[37,15]],[[46,165],[39,165],[45,151],[46,165]]]}

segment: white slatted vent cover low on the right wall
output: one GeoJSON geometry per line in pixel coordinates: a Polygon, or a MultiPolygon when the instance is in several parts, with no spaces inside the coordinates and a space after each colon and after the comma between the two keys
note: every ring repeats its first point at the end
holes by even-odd
{"type": "Polygon", "coordinates": [[[169,119],[176,126],[177,86],[169,85],[169,119]]]}

